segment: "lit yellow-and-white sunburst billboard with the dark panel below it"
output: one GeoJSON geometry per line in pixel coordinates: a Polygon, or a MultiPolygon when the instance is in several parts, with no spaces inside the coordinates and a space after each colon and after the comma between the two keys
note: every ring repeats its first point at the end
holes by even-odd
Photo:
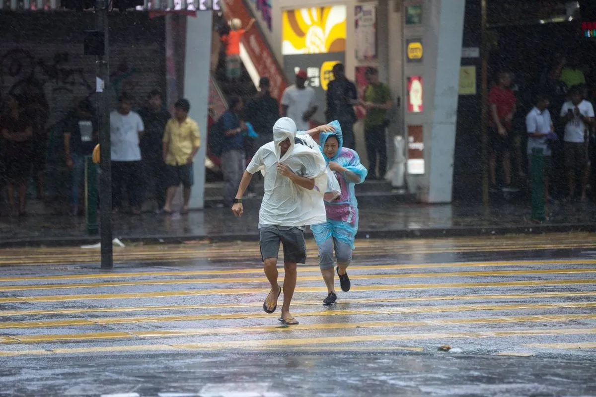
{"type": "Polygon", "coordinates": [[[306,85],[313,87],[319,108],[315,121],[325,121],[327,85],[333,80],[331,70],[344,62],[346,51],[346,15],[344,5],[284,10],[281,23],[281,52],[284,72],[290,83],[296,72],[306,71],[306,85]]]}

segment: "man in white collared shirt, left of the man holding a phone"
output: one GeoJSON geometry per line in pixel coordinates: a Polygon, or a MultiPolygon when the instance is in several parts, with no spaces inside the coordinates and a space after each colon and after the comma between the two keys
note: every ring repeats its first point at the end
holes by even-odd
{"type": "Polygon", "coordinates": [[[544,154],[544,194],[545,201],[554,204],[554,200],[548,194],[548,181],[552,171],[551,146],[549,139],[554,137],[555,128],[552,124],[551,114],[548,111],[550,101],[545,95],[538,95],[535,107],[526,115],[527,130],[527,155],[529,159],[528,170],[532,175],[532,150],[542,149],[544,154]]]}

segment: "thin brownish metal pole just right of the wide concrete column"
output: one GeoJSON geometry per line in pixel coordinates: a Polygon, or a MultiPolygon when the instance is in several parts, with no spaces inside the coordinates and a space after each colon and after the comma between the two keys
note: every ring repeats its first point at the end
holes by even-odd
{"type": "Polygon", "coordinates": [[[486,36],[486,2],[488,0],[480,0],[480,60],[482,62],[482,119],[480,121],[480,131],[482,133],[482,201],[485,209],[488,209],[488,131],[486,130],[486,123],[488,121],[488,57],[489,57],[489,43],[486,36]]]}

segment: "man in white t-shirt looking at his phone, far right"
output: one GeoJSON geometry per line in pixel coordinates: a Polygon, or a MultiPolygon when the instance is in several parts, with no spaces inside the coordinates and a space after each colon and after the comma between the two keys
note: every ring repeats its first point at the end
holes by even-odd
{"type": "Polygon", "coordinates": [[[565,124],[565,166],[569,183],[569,198],[575,196],[575,176],[582,174],[582,201],[586,201],[586,186],[589,179],[588,132],[594,118],[594,107],[583,99],[580,86],[575,86],[569,93],[570,101],[563,104],[561,117],[565,124]]]}

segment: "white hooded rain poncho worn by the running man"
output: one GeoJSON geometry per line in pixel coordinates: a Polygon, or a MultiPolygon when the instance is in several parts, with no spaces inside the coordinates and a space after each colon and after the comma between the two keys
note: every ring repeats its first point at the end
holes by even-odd
{"type": "Polygon", "coordinates": [[[254,155],[247,172],[261,171],[265,195],[259,211],[259,225],[303,227],[327,220],[323,194],[327,187],[325,159],[318,147],[296,145],[296,124],[282,117],[273,127],[273,142],[266,143],[254,155]],[[290,139],[290,148],[282,156],[280,143],[290,139]],[[278,162],[294,173],[315,179],[315,188],[305,189],[277,171],[278,162]]]}

